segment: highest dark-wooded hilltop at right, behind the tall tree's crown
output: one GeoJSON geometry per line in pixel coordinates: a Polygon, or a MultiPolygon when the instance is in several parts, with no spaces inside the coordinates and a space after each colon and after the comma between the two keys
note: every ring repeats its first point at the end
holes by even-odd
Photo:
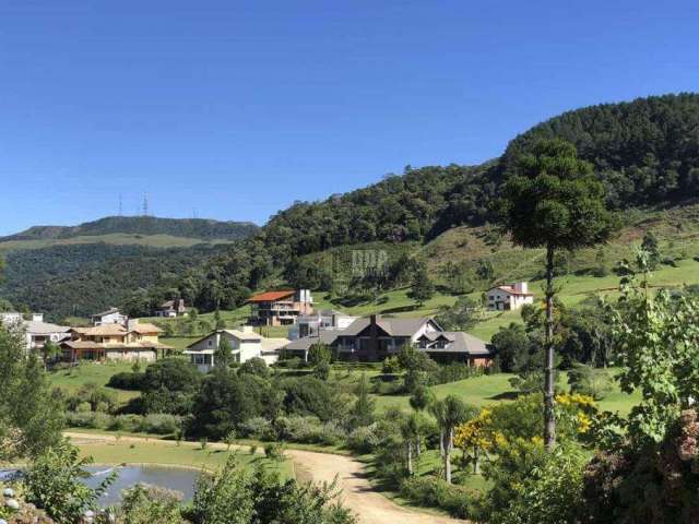
{"type": "Polygon", "coordinates": [[[595,166],[613,207],[664,204],[699,193],[699,94],[639,98],[568,111],[514,139],[500,172],[542,139],[561,138],[595,166]]]}

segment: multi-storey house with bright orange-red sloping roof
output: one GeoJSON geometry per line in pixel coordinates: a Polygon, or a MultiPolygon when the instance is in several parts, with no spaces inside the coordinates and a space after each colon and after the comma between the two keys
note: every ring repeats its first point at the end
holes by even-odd
{"type": "Polygon", "coordinates": [[[298,317],[313,312],[313,299],[308,289],[265,291],[248,299],[253,325],[293,325],[298,317]]]}

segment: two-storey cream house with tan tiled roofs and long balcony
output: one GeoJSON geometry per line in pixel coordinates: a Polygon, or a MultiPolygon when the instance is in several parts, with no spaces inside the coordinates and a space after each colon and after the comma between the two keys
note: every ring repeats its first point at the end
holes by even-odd
{"type": "Polygon", "coordinates": [[[129,320],[125,325],[106,323],[92,327],[71,327],[70,340],[61,343],[63,357],[78,360],[154,361],[171,348],[158,342],[161,329],[151,323],[129,320]]]}

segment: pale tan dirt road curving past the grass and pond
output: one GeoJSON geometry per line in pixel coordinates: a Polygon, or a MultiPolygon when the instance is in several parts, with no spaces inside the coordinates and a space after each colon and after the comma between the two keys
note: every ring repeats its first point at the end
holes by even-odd
{"type": "MultiPolygon", "coordinates": [[[[80,444],[95,441],[116,441],[111,434],[64,432],[74,443],[80,444]]],[[[141,437],[120,437],[121,442],[157,442],[164,445],[176,445],[171,440],[146,439],[141,437]]],[[[194,442],[182,442],[181,445],[198,446],[194,442]]],[[[223,443],[210,443],[212,449],[226,449],[223,443]]],[[[248,450],[248,446],[234,448],[248,450]]],[[[447,516],[422,513],[416,510],[402,508],[383,497],[369,483],[364,466],[358,461],[346,455],[317,453],[312,451],[286,450],[285,454],[296,467],[299,480],[315,483],[332,483],[337,478],[337,488],[342,490],[341,499],[345,507],[357,514],[359,524],[464,524],[447,516]]]]}

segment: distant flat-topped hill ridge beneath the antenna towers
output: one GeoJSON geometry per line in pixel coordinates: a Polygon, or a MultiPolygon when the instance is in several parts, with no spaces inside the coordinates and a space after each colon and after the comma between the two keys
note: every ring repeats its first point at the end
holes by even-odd
{"type": "Polygon", "coordinates": [[[79,226],[34,226],[25,231],[0,237],[13,240],[58,240],[111,234],[169,235],[201,240],[238,240],[258,229],[249,222],[218,222],[204,218],[158,218],[155,216],[107,216],[79,226]]]}

